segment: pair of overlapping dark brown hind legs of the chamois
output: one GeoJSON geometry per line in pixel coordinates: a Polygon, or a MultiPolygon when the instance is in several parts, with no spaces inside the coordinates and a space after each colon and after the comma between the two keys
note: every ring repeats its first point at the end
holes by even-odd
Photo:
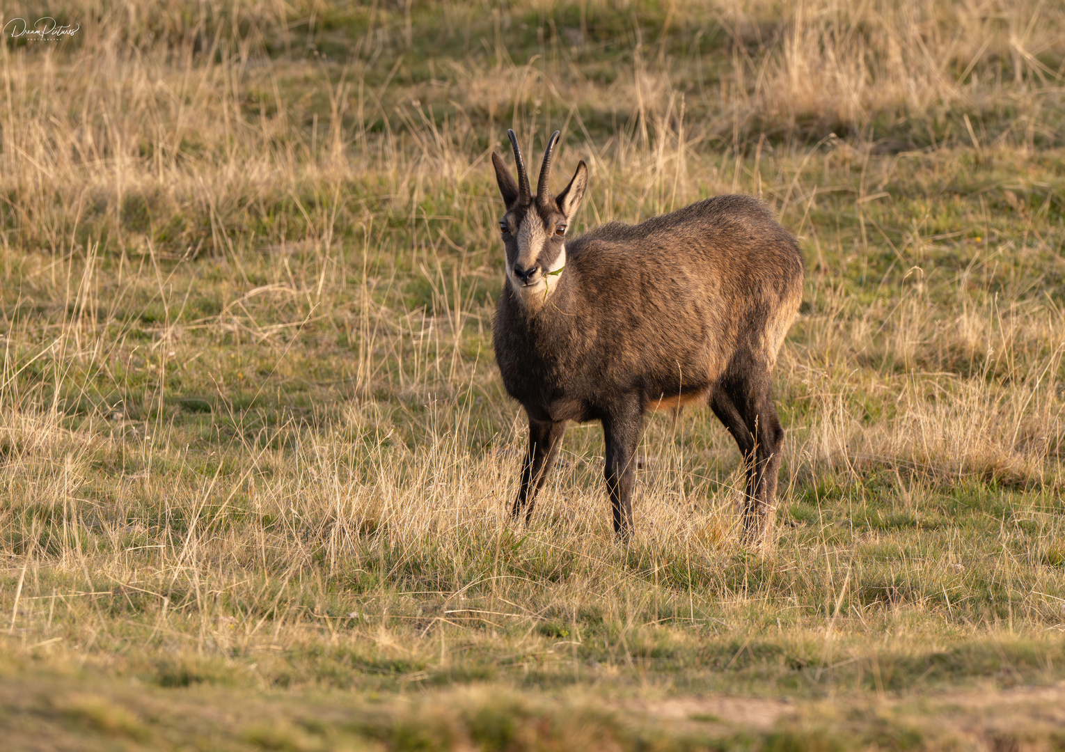
{"type": "Polygon", "coordinates": [[[710,400],[715,414],[725,424],[743,457],[747,470],[743,541],[755,547],[769,542],[784,441],[769,378],[769,374],[764,374],[746,383],[724,383],[710,400]]]}

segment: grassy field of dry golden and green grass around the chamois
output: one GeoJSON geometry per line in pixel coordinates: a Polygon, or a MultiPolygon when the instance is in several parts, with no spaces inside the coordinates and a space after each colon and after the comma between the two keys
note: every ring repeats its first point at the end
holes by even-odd
{"type": "Polygon", "coordinates": [[[48,14],[0,47],[11,749],[1065,749],[1058,3],[48,14]],[[709,410],[648,421],[628,544],[597,425],[508,519],[511,127],[588,162],[577,232],[800,238],[771,552],[709,410]]]}

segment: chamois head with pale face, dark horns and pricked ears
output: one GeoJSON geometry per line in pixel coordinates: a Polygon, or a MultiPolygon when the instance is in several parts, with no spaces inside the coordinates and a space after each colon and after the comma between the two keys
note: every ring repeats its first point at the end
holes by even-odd
{"type": "Polygon", "coordinates": [[[551,158],[558,141],[558,131],[555,131],[543,153],[537,193],[531,195],[525,162],[518,148],[518,137],[511,130],[507,131],[507,135],[514,149],[517,183],[503,163],[503,158],[492,152],[495,179],[507,207],[507,213],[499,219],[499,231],[507,247],[507,280],[518,297],[535,309],[558,284],[559,273],[566,266],[566,231],[585,196],[588,165],[580,161],[566,190],[557,196],[551,196],[551,158]]]}

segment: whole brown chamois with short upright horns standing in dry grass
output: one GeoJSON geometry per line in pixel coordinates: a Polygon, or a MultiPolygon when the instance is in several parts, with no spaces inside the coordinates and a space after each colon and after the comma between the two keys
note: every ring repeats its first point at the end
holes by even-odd
{"type": "Polygon", "coordinates": [[[507,209],[507,279],[492,334],[504,386],[529,422],[512,514],[530,520],[567,423],[597,420],[613,529],[626,538],[643,414],[708,403],[746,464],[744,542],[770,543],[784,439],[771,376],[804,277],[794,238],[753,196],[716,196],[568,238],[588,166],[580,161],[551,196],[556,131],[532,195],[508,134],[517,183],[492,153],[507,209]]]}

